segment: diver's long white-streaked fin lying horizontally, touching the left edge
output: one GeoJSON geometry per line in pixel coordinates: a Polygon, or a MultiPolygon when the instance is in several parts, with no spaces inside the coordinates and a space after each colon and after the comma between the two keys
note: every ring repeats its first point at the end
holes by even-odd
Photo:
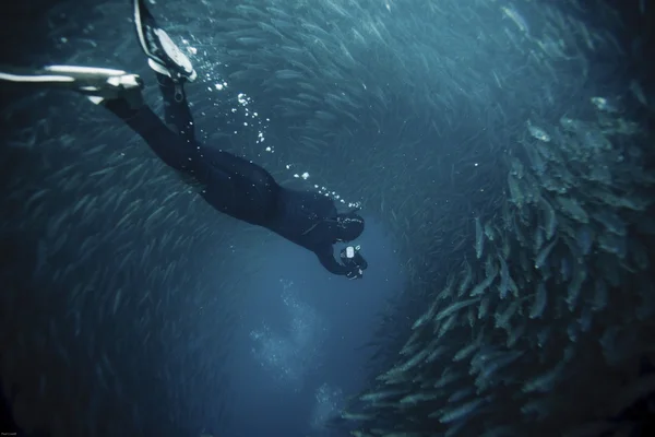
{"type": "Polygon", "coordinates": [[[122,70],[78,66],[48,66],[39,70],[0,69],[0,81],[67,88],[84,94],[96,105],[108,99],[126,99],[131,107],[143,104],[143,82],[122,70]]]}

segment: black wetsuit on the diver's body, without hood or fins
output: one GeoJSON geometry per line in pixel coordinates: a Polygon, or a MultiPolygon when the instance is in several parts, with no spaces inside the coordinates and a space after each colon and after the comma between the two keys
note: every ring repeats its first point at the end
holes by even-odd
{"type": "Polygon", "coordinates": [[[230,153],[199,143],[181,86],[157,74],[165,118],[174,132],[147,106],[131,109],[122,99],[105,106],[139,133],[168,166],[193,177],[201,196],[216,210],[266,227],[311,250],[330,272],[346,275],[352,268],[334,258],[336,208],[319,193],[281,187],[262,167],[230,153]],[[177,97],[175,98],[177,93],[177,97]]]}

